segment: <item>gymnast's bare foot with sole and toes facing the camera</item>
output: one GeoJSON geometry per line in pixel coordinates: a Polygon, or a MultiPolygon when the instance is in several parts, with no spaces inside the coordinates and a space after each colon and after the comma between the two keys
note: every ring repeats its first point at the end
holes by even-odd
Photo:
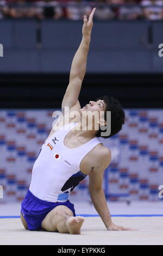
{"type": "Polygon", "coordinates": [[[83,222],[84,217],[82,216],[68,218],[66,224],[70,234],[80,235],[80,228],[82,227],[83,222]]]}

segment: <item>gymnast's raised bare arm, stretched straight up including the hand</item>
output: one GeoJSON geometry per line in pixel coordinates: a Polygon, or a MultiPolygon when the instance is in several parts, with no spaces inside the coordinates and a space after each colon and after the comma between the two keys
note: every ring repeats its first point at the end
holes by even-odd
{"type": "Polygon", "coordinates": [[[95,10],[96,8],[93,8],[89,16],[89,20],[87,20],[86,15],[84,16],[84,24],[82,28],[82,41],[73,58],[70,71],[70,81],[66,89],[64,98],[62,100],[61,108],[63,113],[65,107],[75,107],[76,110],[80,109],[78,97],[86,72],[87,54],[89,52],[91,31],[93,27],[93,15],[95,13],[95,10]]]}

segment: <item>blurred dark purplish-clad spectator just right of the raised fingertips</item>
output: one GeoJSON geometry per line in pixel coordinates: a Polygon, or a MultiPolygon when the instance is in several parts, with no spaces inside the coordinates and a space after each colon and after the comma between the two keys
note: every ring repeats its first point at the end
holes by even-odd
{"type": "MultiPolygon", "coordinates": [[[[97,3],[106,4],[106,0],[98,0],[97,3]]],[[[94,17],[98,20],[109,20],[115,17],[115,13],[111,10],[110,7],[96,5],[94,17]]]]}

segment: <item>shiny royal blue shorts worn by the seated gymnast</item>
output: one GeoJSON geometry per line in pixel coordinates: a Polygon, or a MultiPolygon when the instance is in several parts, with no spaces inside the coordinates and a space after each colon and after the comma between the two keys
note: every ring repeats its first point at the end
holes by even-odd
{"type": "Polygon", "coordinates": [[[58,205],[65,205],[73,212],[73,216],[76,216],[74,205],[69,200],[63,203],[53,203],[41,200],[32,194],[29,189],[24,197],[21,206],[21,214],[27,222],[29,230],[43,229],[41,223],[49,211],[53,210],[58,205]]]}

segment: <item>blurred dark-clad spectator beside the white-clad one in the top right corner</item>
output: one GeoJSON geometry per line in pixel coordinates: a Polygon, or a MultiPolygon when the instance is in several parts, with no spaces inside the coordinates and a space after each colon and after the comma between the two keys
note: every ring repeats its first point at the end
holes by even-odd
{"type": "Polygon", "coordinates": [[[131,6],[134,4],[134,0],[126,0],[126,4],[129,6],[120,7],[118,18],[120,20],[136,20],[142,17],[142,9],[139,6],[131,6]]]}

